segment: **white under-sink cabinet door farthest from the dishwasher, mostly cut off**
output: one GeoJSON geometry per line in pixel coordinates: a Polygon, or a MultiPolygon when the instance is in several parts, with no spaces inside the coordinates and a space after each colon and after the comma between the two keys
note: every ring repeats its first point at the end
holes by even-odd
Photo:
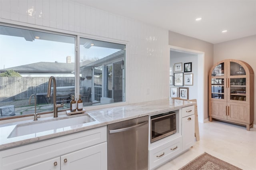
{"type": "Polygon", "coordinates": [[[60,170],[60,157],[46,160],[20,170],[60,170]]]}

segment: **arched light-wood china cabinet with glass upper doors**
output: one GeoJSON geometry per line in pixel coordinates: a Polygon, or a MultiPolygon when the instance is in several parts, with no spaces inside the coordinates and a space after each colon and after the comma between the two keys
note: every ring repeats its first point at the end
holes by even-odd
{"type": "Polygon", "coordinates": [[[244,61],[226,59],[209,72],[209,117],[245,125],[254,121],[254,72],[244,61]]]}

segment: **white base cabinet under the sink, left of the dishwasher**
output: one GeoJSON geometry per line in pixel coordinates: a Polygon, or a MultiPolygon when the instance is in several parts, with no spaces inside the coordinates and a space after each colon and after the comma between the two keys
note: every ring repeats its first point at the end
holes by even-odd
{"type": "Polygon", "coordinates": [[[2,150],[0,170],[79,170],[86,167],[104,170],[107,168],[106,132],[105,126],[2,150]]]}

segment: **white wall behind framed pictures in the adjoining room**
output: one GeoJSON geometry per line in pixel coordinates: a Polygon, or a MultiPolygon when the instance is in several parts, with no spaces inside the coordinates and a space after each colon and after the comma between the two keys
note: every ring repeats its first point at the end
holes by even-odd
{"type": "MultiPolygon", "coordinates": [[[[192,62],[192,72],[185,72],[184,74],[193,74],[193,85],[184,85],[182,87],[188,87],[189,99],[197,99],[197,55],[189,54],[189,53],[180,53],[176,51],[170,51],[170,66],[174,66],[175,63],[182,63],[182,71],[184,73],[184,63],[192,62]]],[[[181,73],[179,71],[179,73],[181,73]]],[[[178,72],[174,72],[178,73],[178,72]]],[[[180,87],[171,85],[170,87],[180,87]]]]}

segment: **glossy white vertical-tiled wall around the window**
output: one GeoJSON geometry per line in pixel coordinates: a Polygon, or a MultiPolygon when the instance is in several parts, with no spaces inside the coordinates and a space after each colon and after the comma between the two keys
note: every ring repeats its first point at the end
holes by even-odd
{"type": "Polygon", "coordinates": [[[128,102],[169,97],[168,30],[70,0],[0,0],[0,22],[127,43],[128,102]]]}

